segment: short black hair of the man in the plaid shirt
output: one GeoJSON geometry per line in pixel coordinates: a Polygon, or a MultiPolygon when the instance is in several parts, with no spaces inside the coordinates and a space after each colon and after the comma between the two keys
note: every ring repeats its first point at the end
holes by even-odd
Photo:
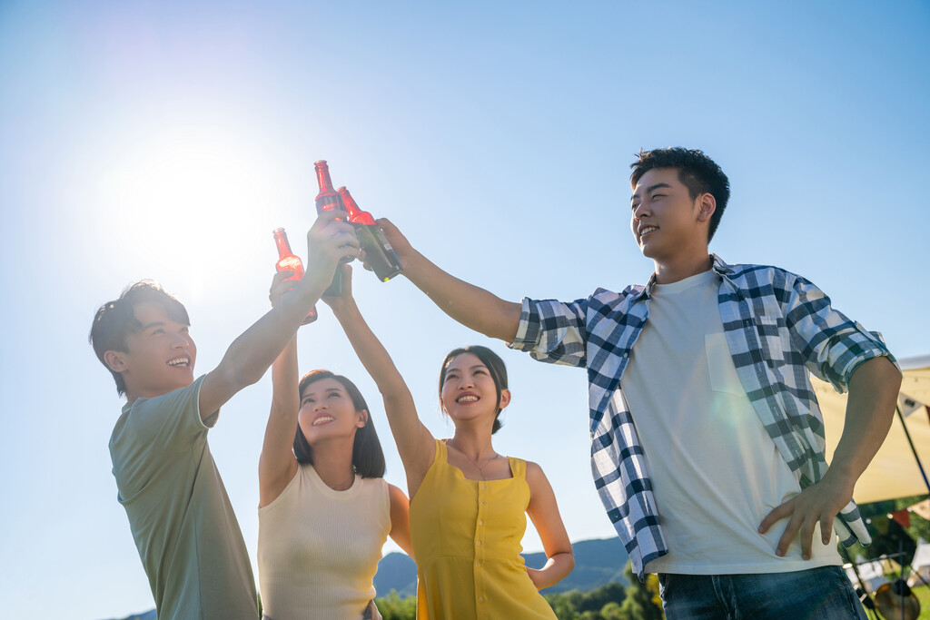
{"type": "Polygon", "coordinates": [[[695,200],[702,193],[709,193],[717,201],[717,208],[711,216],[711,225],[708,229],[708,243],[713,239],[713,233],[720,225],[720,218],[724,216],[727,201],[730,200],[730,180],[724,175],[710,157],[697,149],[684,149],[671,147],[670,149],[653,149],[643,151],[636,155],[637,161],[630,167],[630,187],[635,189],[639,179],[653,168],[678,168],[678,180],[688,188],[691,200],[695,200]]]}

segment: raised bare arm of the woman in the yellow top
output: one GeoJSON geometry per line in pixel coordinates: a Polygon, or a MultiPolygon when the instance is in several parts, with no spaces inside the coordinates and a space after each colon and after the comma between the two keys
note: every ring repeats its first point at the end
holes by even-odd
{"type": "Polygon", "coordinates": [[[413,395],[407,388],[404,377],[397,371],[391,355],[375,336],[358,305],[352,297],[352,267],[342,266],[342,295],[325,297],[324,301],[345,330],[352,349],[374,379],[384,401],[384,413],[388,416],[397,452],[404,461],[407,492],[412,499],[420,482],[432,465],[436,444],[429,429],[423,426],[417,415],[413,395]]]}

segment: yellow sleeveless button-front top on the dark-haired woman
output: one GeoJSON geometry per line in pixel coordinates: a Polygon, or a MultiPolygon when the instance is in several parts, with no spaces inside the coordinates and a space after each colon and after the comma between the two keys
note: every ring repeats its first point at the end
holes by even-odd
{"type": "Polygon", "coordinates": [[[436,440],[436,456],[410,502],[418,620],[555,620],[520,556],[526,461],[508,460],[512,478],[468,480],[436,440]]]}

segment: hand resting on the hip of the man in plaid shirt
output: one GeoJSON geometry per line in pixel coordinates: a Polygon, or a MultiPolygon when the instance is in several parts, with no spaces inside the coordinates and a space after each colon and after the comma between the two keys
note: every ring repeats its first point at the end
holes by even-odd
{"type": "Polygon", "coordinates": [[[812,484],[790,500],[777,506],[759,524],[759,533],[765,534],[776,521],[788,518],[785,532],[781,534],[776,555],[783,556],[798,534],[801,534],[801,557],[810,560],[814,540],[814,527],[820,523],[820,538],[824,545],[830,544],[833,520],[853,498],[855,481],[850,484],[839,476],[830,476],[830,471],[816,484],[812,484]]]}

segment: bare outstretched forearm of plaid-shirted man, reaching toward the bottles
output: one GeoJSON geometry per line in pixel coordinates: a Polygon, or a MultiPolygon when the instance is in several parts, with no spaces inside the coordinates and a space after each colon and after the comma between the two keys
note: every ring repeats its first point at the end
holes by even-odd
{"type": "Polygon", "coordinates": [[[440,310],[485,336],[513,342],[520,324],[520,304],[501,299],[439,269],[410,245],[391,220],[381,218],[378,225],[404,264],[404,275],[440,310]]]}

